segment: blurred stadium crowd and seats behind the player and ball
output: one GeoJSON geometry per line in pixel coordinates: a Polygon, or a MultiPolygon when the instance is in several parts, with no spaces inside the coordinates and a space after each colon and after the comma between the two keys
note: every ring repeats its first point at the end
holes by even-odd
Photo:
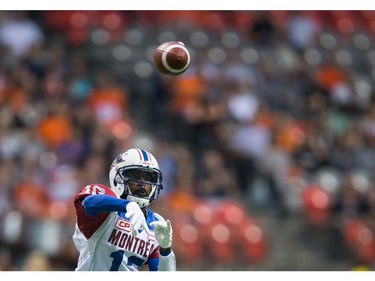
{"type": "Polygon", "coordinates": [[[0,11],[0,270],[73,271],[73,198],[134,146],[178,270],[373,270],[374,35],[373,11],[0,11]]]}

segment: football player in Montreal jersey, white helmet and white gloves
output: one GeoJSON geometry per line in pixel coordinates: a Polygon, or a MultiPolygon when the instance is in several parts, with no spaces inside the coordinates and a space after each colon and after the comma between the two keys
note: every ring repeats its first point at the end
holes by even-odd
{"type": "Polygon", "coordinates": [[[149,209],[163,189],[155,157],[132,148],[118,155],[109,171],[110,187],[85,186],[75,197],[73,241],[76,271],[175,271],[170,220],[149,209]]]}

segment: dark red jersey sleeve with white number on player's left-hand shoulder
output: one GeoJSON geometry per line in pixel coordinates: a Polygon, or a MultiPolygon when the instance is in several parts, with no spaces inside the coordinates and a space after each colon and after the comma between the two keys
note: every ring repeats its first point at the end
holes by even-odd
{"type": "Polygon", "coordinates": [[[109,216],[109,212],[104,212],[96,216],[88,216],[82,206],[82,201],[89,195],[105,194],[117,198],[117,195],[109,187],[102,184],[91,184],[81,189],[74,199],[74,207],[77,215],[77,226],[80,231],[89,239],[95,231],[102,225],[102,223],[109,216]]]}

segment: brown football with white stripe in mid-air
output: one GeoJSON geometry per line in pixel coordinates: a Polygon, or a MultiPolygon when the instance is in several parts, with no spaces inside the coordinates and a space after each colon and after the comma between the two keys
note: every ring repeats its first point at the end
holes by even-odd
{"type": "Polygon", "coordinates": [[[154,64],[162,74],[180,75],[190,65],[190,54],[182,42],[165,42],[156,48],[154,64]]]}

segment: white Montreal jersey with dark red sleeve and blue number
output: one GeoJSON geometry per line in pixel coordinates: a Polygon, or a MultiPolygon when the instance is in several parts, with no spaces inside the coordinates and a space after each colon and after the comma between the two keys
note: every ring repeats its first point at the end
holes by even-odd
{"type": "MultiPolygon", "coordinates": [[[[118,196],[107,186],[88,185],[76,196],[77,222],[73,241],[79,251],[76,271],[138,271],[151,258],[159,258],[155,236],[141,230],[136,236],[125,212],[101,213],[90,217],[81,204],[91,194],[118,196]]],[[[147,224],[157,220],[148,210],[147,224]]],[[[149,227],[151,229],[151,227],[149,227]]]]}

